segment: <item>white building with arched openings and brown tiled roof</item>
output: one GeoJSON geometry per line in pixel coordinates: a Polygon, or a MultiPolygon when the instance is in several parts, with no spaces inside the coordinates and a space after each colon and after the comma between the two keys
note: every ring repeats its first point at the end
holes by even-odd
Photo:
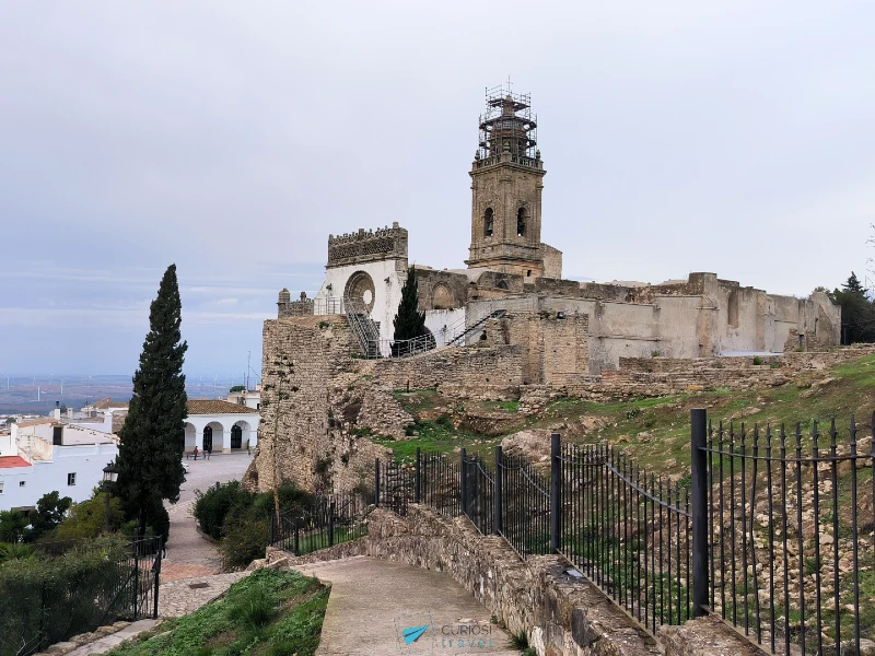
{"type": "Polygon", "coordinates": [[[189,399],[185,424],[185,450],[195,446],[199,450],[224,454],[255,448],[258,444],[258,409],[221,400],[189,399]]]}

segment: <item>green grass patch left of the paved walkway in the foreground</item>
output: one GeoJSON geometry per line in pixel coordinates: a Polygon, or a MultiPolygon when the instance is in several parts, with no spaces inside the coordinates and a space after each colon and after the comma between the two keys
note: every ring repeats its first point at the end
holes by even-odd
{"type": "Polygon", "coordinates": [[[329,589],[296,572],[258,570],[191,614],[113,656],[313,656],[329,589]]]}

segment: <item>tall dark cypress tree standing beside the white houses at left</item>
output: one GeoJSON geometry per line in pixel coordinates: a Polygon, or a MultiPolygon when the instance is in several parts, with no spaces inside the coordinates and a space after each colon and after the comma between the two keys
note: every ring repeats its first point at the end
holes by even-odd
{"type": "Polygon", "coordinates": [[[137,519],[138,534],[147,525],[167,538],[163,501],[176,503],[185,480],[185,419],[187,397],[183,363],[188,344],[182,341],[182,302],[176,265],[167,267],[149,312],[149,333],[133,374],[133,397],[119,431],[115,493],[126,516],[137,519]]]}

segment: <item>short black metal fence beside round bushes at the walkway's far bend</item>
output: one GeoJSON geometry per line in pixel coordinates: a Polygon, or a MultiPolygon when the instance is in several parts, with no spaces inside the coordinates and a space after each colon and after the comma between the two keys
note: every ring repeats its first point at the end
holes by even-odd
{"type": "Polygon", "coordinates": [[[368,535],[369,500],[359,494],[317,496],[312,504],[273,514],[270,543],[295,555],[368,535]]]}

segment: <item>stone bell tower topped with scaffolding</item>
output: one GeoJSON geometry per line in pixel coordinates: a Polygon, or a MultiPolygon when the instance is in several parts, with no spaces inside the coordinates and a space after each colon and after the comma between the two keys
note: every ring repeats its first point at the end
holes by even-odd
{"type": "Polygon", "coordinates": [[[487,90],[469,174],[469,269],[485,267],[526,278],[545,274],[540,197],[547,172],[537,150],[536,119],[528,94],[504,86],[487,90]]]}

